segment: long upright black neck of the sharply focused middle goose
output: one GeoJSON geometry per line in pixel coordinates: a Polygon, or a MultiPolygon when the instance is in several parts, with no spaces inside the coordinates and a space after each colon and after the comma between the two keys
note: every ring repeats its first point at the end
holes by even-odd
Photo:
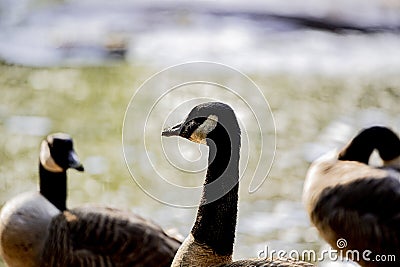
{"type": "Polygon", "coordinates": [[[194,239],[219,255],[232,255],[239,189],[240,132],[225,130],[207,139],[209,165],[192,228],[194,239]],[[222,133],[221,133],[222,132],[222,133]]]}

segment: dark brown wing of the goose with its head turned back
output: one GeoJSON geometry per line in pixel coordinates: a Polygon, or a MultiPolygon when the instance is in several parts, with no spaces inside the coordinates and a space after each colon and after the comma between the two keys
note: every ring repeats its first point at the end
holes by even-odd
{"type": "MultiPolygon", "coordinates": [[[[397,178],[363,178],[322,191],[311,220],[333,246],[339,238],[345,250],[400,259],[400,182],[397,178]]],[[[361,263],[363,263],[361,261],[361,263]]],[[[375,266],[365,262],[364,266],[375,266]]]]}

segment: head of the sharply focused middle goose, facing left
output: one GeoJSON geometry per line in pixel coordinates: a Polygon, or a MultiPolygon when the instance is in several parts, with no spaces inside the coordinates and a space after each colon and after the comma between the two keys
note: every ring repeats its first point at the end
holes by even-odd
{"type": "Polygon", "coordinates": [[[221,102],[208,102],[194,107],[186,119],[162,132],[162,136],[180,136],[192,142],[210,145],[228,137],[240,139],[240,128],[234,111],[221,102]]]}

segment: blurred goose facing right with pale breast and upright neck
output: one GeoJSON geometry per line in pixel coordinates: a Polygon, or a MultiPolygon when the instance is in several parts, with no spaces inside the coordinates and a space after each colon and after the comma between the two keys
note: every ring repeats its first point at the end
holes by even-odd
{"type": "Polygon", "coordinates": [[[49,135],[39,158],[39,192],[13,198],[0,214],[8,266],[170,266],[180,242],[154,223],[107,207],[67,209],[66,171],[83,171],[69,135],[49,135]]]}

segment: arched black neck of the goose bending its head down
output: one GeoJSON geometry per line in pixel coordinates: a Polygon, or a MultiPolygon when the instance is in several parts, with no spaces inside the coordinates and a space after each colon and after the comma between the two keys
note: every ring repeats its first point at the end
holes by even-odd
{"type": "Polygon", "coordinates": [[[395,159],[400,156],[400,139],[386,127],[371,127],[360,132],[339,154],[339,159],[368,164],[374,149],[383,160],[395,159]]]}

